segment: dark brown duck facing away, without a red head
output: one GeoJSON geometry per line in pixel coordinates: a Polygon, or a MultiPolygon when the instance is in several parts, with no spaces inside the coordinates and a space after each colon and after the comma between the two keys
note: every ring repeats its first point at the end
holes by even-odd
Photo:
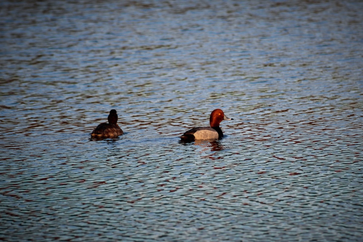
{"type": "Polygon", "coordinates": [[[109,123],[101,123],[93,130],[91,133],[92,137],[112,137],[122,135],[122,129],[117,124],[117,112],[116,110],[111,110],[107,120],[109,123]]]}

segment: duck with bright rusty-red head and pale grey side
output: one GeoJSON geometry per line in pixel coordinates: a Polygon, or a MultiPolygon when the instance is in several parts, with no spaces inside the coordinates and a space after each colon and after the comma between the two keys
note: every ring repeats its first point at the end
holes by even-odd
{"type": "Polygon", "coordinates": [[[220,109],[213,110],[209,117],[211,127],[197,127],[185,132],[180,136],[181,140],[197,140],[197,139],[220,139],[223,138],[223,132],[219,127],[223,120],[233,120],[227,118],[220,109]]]}

